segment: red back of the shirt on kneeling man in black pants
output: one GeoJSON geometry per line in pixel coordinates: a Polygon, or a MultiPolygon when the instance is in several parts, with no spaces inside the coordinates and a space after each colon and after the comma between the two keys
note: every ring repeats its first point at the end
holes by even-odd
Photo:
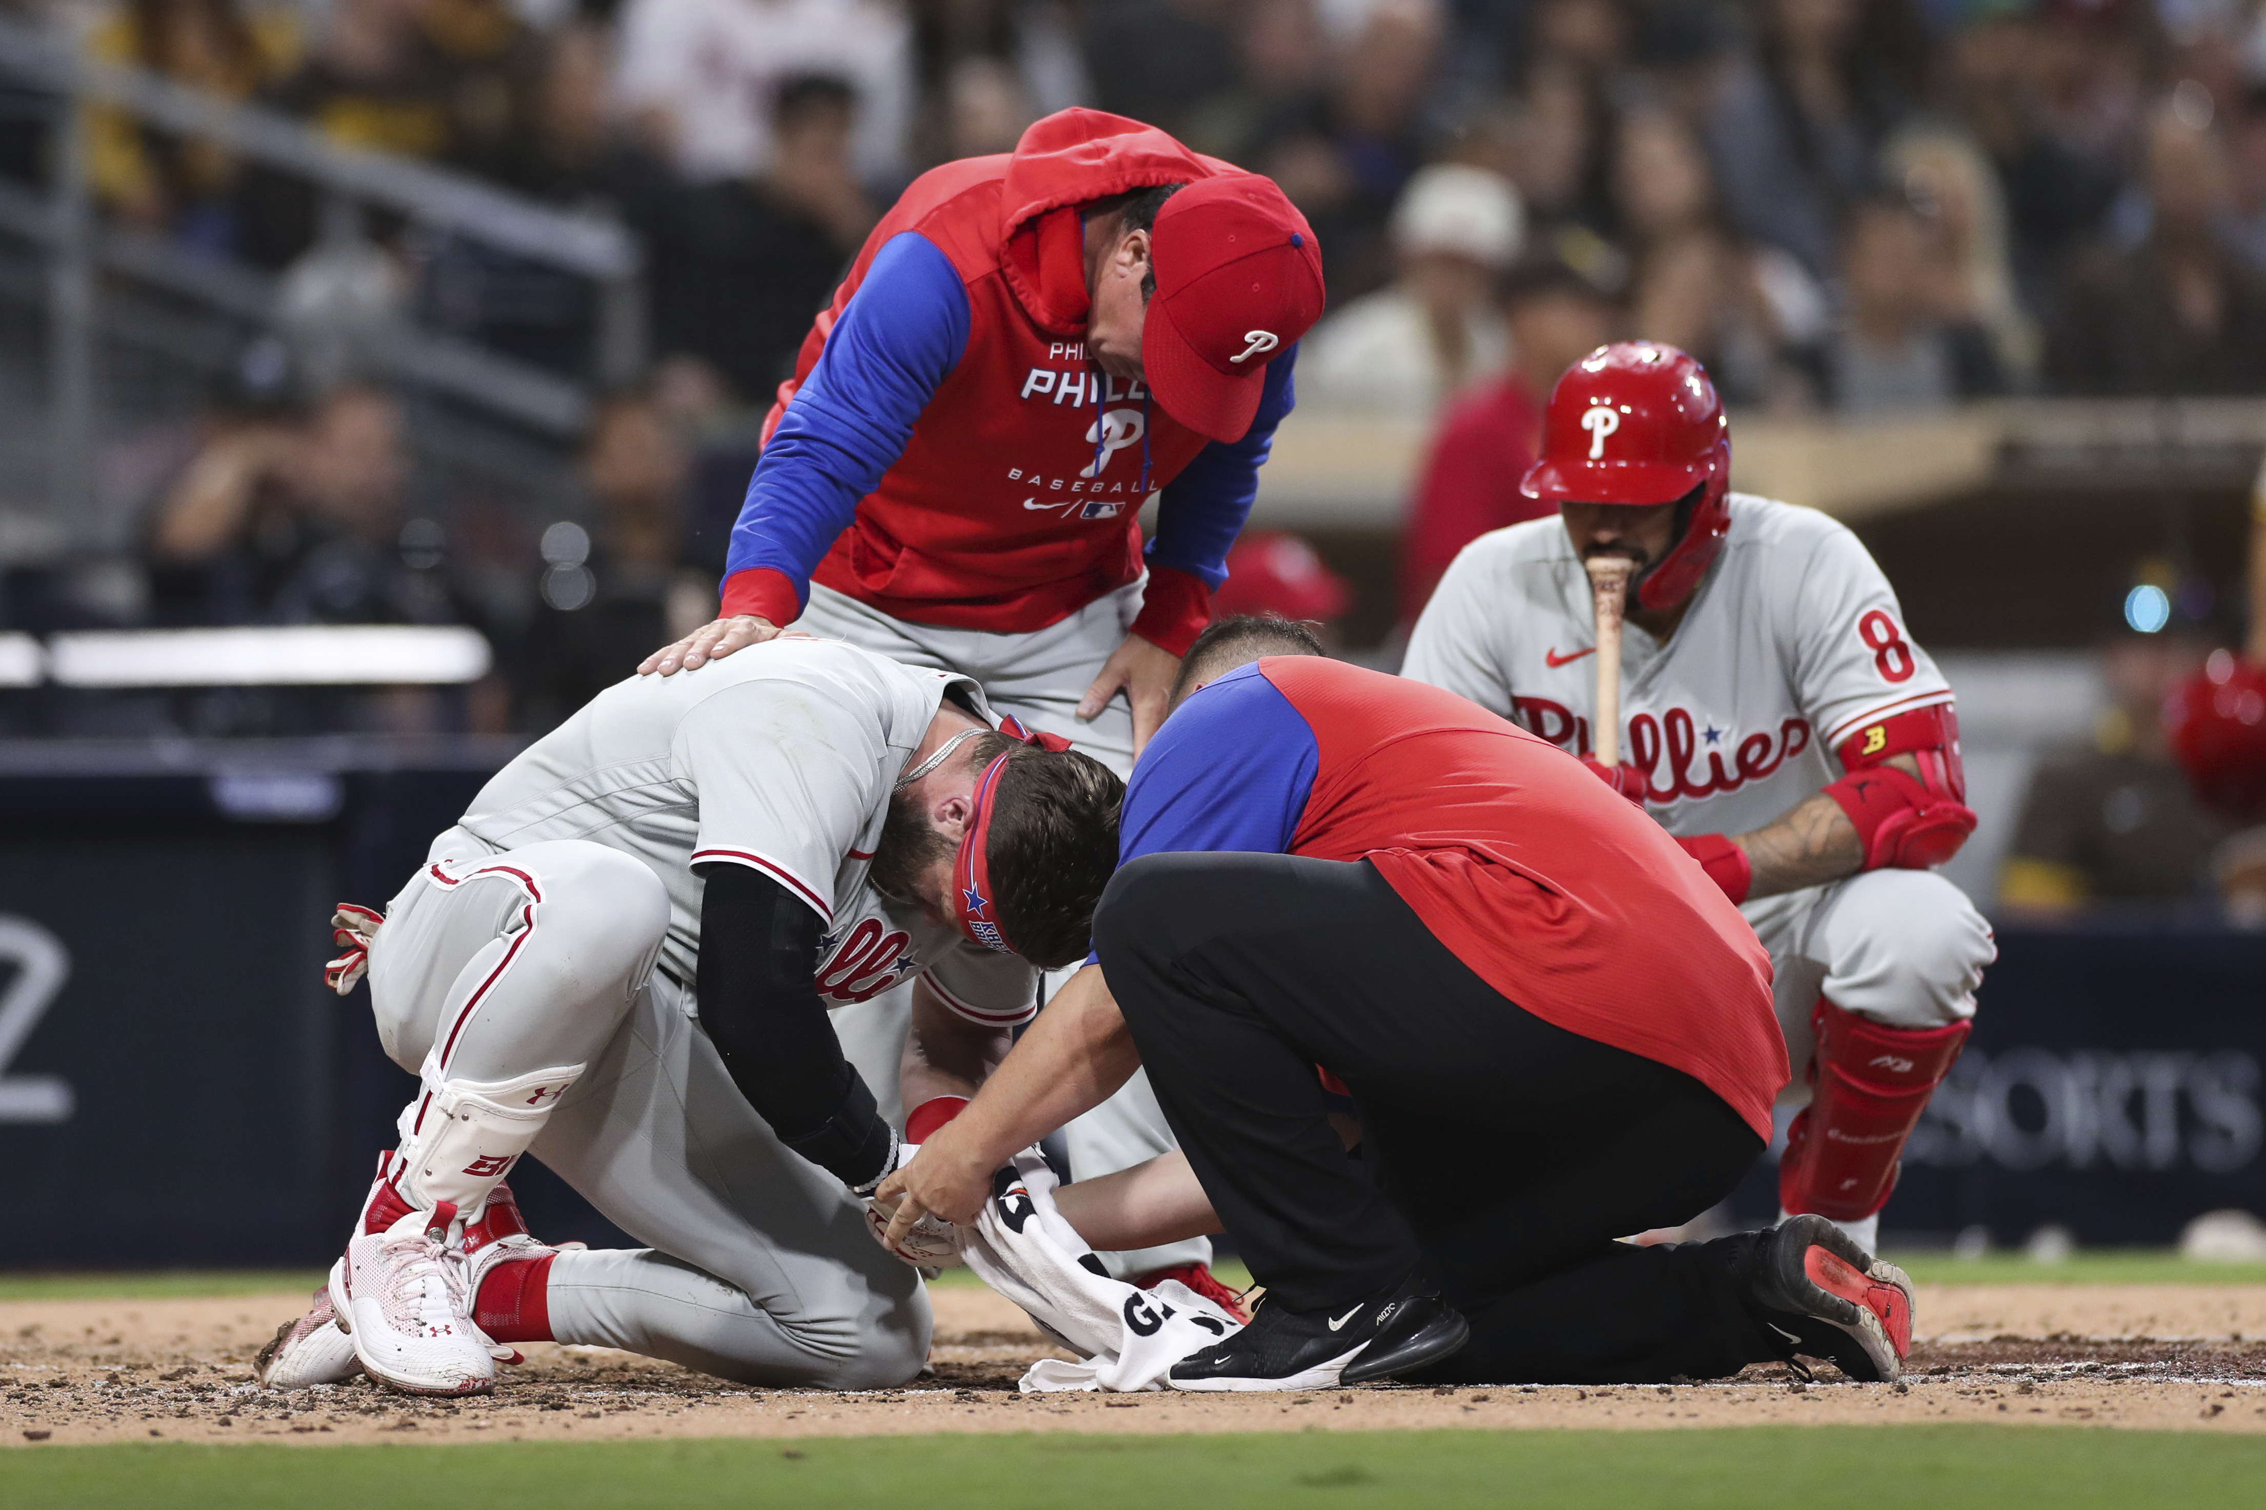
{"type": "Polygon", "coordinates": [[[1770,953],[1668,831],[1566,752],[1437,686],[1321,657],[1260,675],[1314,731],[1289,853],[1369,860],[1534,1016],[1679,1069],[1770,1141],[1770,953]]]}

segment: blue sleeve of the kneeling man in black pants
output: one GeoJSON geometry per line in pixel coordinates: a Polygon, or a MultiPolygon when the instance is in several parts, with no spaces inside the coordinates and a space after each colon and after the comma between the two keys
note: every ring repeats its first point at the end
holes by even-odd
{"type": "Polygon", "coordinates": [[[1321,749],[1305,718],[1240,666],[1165,720],[1133,767],[1117,863],[1165,851],[1287,853],[1321,749]]]}

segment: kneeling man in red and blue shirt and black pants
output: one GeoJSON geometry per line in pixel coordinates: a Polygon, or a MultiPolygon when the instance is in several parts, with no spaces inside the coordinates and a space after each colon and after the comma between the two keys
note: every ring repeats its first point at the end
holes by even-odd
{"type": "MultiPolygon", "coordinates": [[[[1899,1374],[1910,1281],[1824,1218],[1616,1241],[1722,1200],[1786,1082],[1770,960],[1659,824],[1292,625],[1221,620],[1181,677],[1097,962],[884,1179],[888,1241],[977,1220],[993,1170],[1147,1066],[1187,1164],[1113,1177],[1119,1204],[1151,1241],[1217,1211],[1267,1286],[1174,1388],[1641,1383],[1797,1354],[1899,1374]],[[1360,1159],[1317,1066],[1360,1103],[1360,1159]]],[[[1063,1213],[1094,1241],[1079,1193],[1063,1213]]]]}

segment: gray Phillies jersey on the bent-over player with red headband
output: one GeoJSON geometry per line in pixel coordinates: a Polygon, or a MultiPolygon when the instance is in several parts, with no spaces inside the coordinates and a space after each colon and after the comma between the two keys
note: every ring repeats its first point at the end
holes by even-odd
{"type": "Polygon", "coordinates": [[[668,887],[662,967],[698,978],[696,865],[746,865],[820,919],[829,1007],[927,976],[979,1023],[1020,1023],[1038,978],[1015,955],[929,924],[868,878],[888,797],[947,690],[986,722],[968,677],[902,666],[841,641],[780,638],[675,677],[630,677],[496,772],[458,822],[503,849],[591,840],[644,860],[668,887]]]}

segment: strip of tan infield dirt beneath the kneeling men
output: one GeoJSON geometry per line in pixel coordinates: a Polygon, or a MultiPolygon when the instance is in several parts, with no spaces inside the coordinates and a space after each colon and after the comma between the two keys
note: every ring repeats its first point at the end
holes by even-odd
{"type": "Polygon", "coordinates": [[[353,1381],[267,1395],[252,1356],[304,1295],[0,1304],[0,1442],[446,1442],[929,1431],[1335,1431],[2060,1422],[2266,1433],[2266,1286],[1922,1288],[1903,1385],[1756,1367],[1709,1385],[1362,1388],[1317,1395],[1017,1395],[1047,1345],[1008,1302],[936,1290],[934,1379],[752,1390],[594,1347],[544,1347],[492,1397],[353,1381]]]}

